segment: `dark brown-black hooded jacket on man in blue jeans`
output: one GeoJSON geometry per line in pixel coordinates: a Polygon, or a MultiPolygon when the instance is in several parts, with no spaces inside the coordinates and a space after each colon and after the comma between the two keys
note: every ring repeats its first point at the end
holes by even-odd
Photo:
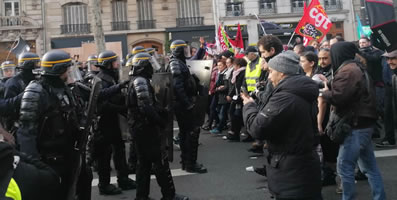
{"type": "MultiPolygon", "coordinates": [[[[360,63],[354,61],[357,47],[350,42],[338,42],[331,48],[335,71],[331,88],[323,93],[340,115],[353,111],[356,128],[367,128],[376,119],[375,93],[372,83],[367,83],[360,63]],[[369,87],[368,87],[369,86],[369,87]]],[[[368,81],[371,82],[369,79],[368,81]]]]}

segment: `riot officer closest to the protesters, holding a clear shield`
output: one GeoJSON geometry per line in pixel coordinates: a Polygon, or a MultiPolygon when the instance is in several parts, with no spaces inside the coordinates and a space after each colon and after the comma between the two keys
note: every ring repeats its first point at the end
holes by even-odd
{"type": "Polygon", "coordinates": [[[197,85],[186,65],[187,45],[183,40],[171,43],[169,67],[173,77],[175,116],[179,126],[182,169],[188,172],[206,173],[207,169],[197,163],[200,128],[193,119],[193,98],[197,85]]]}

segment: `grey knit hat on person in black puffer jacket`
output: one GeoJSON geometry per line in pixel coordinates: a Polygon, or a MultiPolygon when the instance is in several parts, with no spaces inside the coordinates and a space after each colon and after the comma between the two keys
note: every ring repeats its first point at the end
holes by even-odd
{"type": "Polygon", "coordinates": [[[293,51],[278,54],[270,59],[268,65],[270,68],[287,75],[300,74],[299,56],[293,51]]]}

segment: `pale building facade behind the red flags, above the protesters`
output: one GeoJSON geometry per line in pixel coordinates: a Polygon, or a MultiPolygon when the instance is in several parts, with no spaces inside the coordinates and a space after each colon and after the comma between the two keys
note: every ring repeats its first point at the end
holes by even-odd
{"type": "MultiPolygon", "coordinates": [[[[255,44],[263,35],[263,24],[267,34],[278,36],[287,43],[303,15],[304,2],[310,0],[215,0],[215,15],[226,27],[230,35],[235,35],[235,26],[245,27],[243,39],[246,44],[255,44]],[[259,22],[261,21],[261,22],[259,22]]],[[[341,35],[346,40],[356,39],[352,1],[320,0],[333,26],[327,38],[341,35]]]]}

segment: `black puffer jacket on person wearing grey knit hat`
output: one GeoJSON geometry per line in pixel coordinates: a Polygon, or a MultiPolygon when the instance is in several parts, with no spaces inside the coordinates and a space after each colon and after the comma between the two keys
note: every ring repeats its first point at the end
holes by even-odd
{"type": "Polygon", "coordinates": [[[310,199],[321,194],[320,161],[313,151],[319,88],[302,75],[286,77],[263,109],[246,104],[246,128],[268,141],[269,190],[276,198],[310,199]]]}

